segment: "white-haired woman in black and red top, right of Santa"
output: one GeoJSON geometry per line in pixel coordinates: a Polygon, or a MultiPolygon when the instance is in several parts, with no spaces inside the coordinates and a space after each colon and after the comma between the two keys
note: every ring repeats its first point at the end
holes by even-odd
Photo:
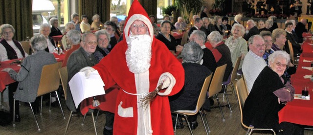
{"type": "Polygon", "coordinates": [[[227,81],[231,73],[231,70],[233,69],[233,64],[231,62],[231,56],[230,56],[231,55],[230,50],[224,44],[223,37],[218,31],[211,32],[207,36],[207,39],[213,47],[211,51],[214,55],[217,67],[227,64],[224,77],[223,77],[223,81],[227,81]]]}

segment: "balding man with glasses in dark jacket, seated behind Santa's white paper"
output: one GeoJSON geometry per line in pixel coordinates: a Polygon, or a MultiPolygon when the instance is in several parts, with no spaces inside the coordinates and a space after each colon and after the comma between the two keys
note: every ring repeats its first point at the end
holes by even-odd
{"type": "MultiPolygon", "coordinates": [[[[68,82],[70,79],[79,72],[80,69],[87,66],[94,66],[97,64],[97,60],[94,58],[93,54],[97,46],[97,37],[93,33],[85,33],[82,36],[81,46],[75,50],[67,60],[67,72],[68,72],[68,82]]],[[[67,108],[73,112],[80,112],[80,107],[76,110],[73,97],[70,91],[69,85],[67,85],[67,108]]]]}

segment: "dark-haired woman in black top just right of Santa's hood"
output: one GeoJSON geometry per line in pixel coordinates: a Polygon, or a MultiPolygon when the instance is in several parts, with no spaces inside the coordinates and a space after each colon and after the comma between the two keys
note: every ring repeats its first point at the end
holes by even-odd
{"type": "Polygon", "coordinates": [[[178,45],[176,43],[176,39],[170,35],[170,29],[171,29],[171,22],[168,20],[162,21],[161,22],[161,32],[156,35],[156,39],[160,40],[163,42],[167,48],[171,51],[181,51],[182,46],[178,45]]]}

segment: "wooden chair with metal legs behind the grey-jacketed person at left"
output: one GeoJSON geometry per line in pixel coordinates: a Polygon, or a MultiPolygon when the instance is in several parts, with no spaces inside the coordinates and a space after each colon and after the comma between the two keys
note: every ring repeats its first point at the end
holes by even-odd
{"type": "MultiPolygon", "coordinates": [[[[50,93],[50,104],[51,104],[51,92],[56,93],[57,99],[61,108],[61,112],[63,114],[63,118],[65,119],[64,112],[60,103],[60,99],[57,93],[57,90],[59,89],[60,86],[60,76],[58,75],[58,69],[61,67],[61,62],[55,63],[55,64],[50,64],[50,65],[45,65],[43,67],[41,77],[40,77],[40,82],[38,86],[38,91],[37,91],[37,97],[41,96],[41,107],[40,107],[40,114],[42,114],[42,108],[43,108],[43,95],[50,93]]],[[[30,108],[33,112],[38,131],[40,131],[39,125],[37,118],[35,116],[35,113],[33,111],[31,103],[29,103],[30,108]]],[[[51,105],[50,105],[51,106],[51,105]]],[[[49,112],[51,112],[49,108],[49,112]]],[[[14,99],[14,112],[13,116],[15,116],[15,99],[14,99]]],[[[13,117],[13,126],[15,126],[15,117],[13,117]]]]}

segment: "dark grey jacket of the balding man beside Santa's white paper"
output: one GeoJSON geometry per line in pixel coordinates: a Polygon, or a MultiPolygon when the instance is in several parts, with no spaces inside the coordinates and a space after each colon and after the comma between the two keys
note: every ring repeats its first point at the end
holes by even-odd
{"type": "Polygon", "coordinates": [[[97,60],[93,57],[93,55],[92,54],[90,55],[91,55],[91,60],[89,60],[89,57],[87,56],[87,52],[84,50],[84,48],[79,47],[69,56],[67,60],[67,72],[68,72],[67,88],[68,89],[67,89],[66,104],[67,104],[67,108],[73,112],[76,112],[76,107],[73,101],[73,97],[72,97],[68,82],[83,67],[92,67],[98,63],[97,60]]]}

